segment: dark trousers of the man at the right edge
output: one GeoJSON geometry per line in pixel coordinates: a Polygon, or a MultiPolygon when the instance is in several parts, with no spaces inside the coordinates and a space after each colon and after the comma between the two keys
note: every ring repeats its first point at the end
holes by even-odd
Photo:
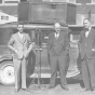
{"type": "Polygon", "coordinates": [[[95,89],[95,58],[83,58],[82,78],[86,89],[95,89]]]}

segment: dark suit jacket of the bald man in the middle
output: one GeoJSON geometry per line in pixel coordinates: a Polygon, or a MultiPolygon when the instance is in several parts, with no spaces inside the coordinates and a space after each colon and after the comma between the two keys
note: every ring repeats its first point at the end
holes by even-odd
{"type": "Polygon", "coordinates": [[[59,37],[55,38],[55,32],[49,35],[48,49],[51,55],[66,55],[69,50],[69,39],[67,30],[60,31],[59,37]]]}

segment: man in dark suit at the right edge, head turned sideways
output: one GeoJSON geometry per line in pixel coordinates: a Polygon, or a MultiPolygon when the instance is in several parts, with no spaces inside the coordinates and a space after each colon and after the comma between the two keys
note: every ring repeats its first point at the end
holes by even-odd
{"type": "Polygon", "coordinates": [[[95,29],[91,26],[91,21],[85,18],[84,29],[81,31],[79,50],[82,60],[82,77],[84,91],[93,89],[95,92],[95,29]]]}

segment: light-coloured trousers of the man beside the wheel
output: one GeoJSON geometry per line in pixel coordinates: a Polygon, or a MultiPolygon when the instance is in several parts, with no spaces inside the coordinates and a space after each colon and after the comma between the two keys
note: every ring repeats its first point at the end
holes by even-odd
{"type": "Polygon", "coordinates": [[[19,89],[21,82],[22,82],[22,89],[26,89],[26,71],[27,71],[26,59],[23,58],[22,60],[18,60],[14,58],[13,63],[14,63],[14,76],[15,76],[15,89],[19,89]]]}

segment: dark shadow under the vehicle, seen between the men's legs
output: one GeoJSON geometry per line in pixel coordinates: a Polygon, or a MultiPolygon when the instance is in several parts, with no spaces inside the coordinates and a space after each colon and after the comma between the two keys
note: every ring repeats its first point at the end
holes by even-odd
{"type": "MultiPolygon", "coordinates": [[[[50,83],[50,78],[41,78],[40,83],[41,84],[49,84],[50,83]]],[[[79,83],[81,87],[84,87],[81,74],[78,74],[78,76],[72,77],[72,78],[68,78],[67,83],[68,84],[78,84],[79,83]]],[[[28,78],[27,79],[27,87],[29,87],[31,84],[38,84],[38,78],[36,78],[36,79],[28,78]]],[[[60,79],[59,78],[56,79],[56,85],[57,84],[60,84],[60,79]]]]}

